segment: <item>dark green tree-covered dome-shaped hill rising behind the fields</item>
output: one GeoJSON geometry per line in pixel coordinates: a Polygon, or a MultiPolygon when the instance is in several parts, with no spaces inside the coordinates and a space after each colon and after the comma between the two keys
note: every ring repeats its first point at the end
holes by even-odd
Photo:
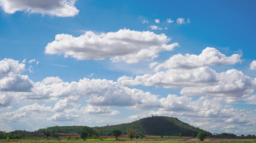
{"type": "MultiPolygon", "coordinates": [[[[121,125],[103,126],[106,135],[111,135],[113,129],[119,129],[123,134],[127,133],[127,129],[134,129],[137,133],[144,135],[179,135],[192,136],[197,135],[199,128],[183,123],[177,118],[165,116],[146,117],[131,123],[121,125]]],[[[95,128],[97,129],[97,128],[95,128]]],[[[209,133],[209,132],[208,132],[209,133]]]]}

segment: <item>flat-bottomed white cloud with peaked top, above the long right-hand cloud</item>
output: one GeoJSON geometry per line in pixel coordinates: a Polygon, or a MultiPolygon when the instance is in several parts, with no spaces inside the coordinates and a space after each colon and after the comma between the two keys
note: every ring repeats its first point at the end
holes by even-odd
{"type": "Polygon", "coordinates": [[[200,55],[173,55],[173,57],[166,60],[164,63],[156,66],[155,71],[162,67],[165,69],[194,69],[204,66],[219,66],[221,64],[233,65],[241,62],[241,55],[233,54],[230,57],[225,56],[215,48],[207,47],[200,55]]]}

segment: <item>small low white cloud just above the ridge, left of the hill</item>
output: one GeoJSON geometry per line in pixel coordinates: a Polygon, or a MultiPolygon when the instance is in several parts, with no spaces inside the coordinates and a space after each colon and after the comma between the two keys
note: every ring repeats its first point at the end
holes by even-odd
{"type": "Polygon", "coordinates": [[[79,115],[55,113],[54,116],[47,118],[48,122],[68,122],[79,118],[79,115]]]}

